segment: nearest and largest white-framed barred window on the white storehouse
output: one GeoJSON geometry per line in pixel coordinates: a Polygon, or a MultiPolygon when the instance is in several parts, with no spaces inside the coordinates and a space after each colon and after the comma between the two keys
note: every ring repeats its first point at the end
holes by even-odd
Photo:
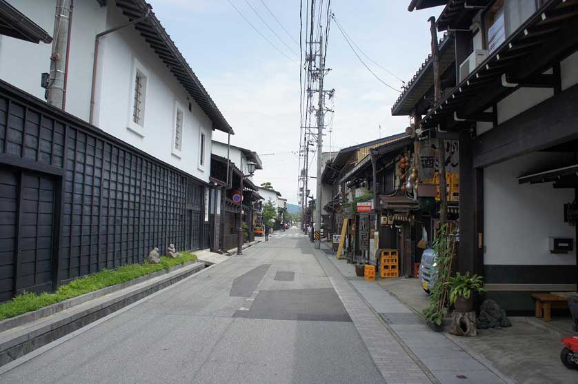
{"type": "Polygon", "coordinates": [[[146,68],[137,59],[133,59],[127,128],[142,137],[144,137],[148,79],[149,75],[146,68]]]}

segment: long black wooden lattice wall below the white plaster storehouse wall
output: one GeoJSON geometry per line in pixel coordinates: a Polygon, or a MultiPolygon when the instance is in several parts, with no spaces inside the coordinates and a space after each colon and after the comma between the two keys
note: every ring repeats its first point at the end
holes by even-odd
{"type": "Polygon", "coordinates": [[[2,81],[0,170],[0,301],[203,246],[200,181],[2,81]]]}

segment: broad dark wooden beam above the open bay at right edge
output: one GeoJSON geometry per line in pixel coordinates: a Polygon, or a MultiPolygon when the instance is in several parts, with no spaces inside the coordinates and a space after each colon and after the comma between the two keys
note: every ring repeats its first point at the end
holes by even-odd
{"type": "Polygon", "coordinates": [[[515,156],[578,137],[578,85],[481,134],[474,141],[475,167],[487,167],[515,156]]]}

